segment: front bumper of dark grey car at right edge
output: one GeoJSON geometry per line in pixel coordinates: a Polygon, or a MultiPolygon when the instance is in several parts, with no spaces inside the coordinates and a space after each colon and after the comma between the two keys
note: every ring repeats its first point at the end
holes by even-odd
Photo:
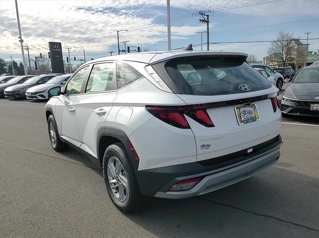
{"type": "MultiPolygon", "coordinates": [[[[286,115],[295,115],[295,116],[311,116],[318,117],[319,111],[311,111],[310,104],[316,102],[308,101],[281,101],[281,112],[286,115]],[[297,104],[297,105],[296,105],[297,104]]],[[[319,102],[317,102],[319,103],[319,102]]]]}

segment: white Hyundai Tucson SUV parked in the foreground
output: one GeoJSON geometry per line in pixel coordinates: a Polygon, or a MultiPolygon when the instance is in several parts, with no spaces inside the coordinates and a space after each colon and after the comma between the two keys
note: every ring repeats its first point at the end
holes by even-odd
{"type": "Polygon", "coordinates": [[[55,151],[72,146],[103,170],[123,212],[149,197],[187,198],[275,163],[278,88],[232,52],[165,51],[82,65],[45,106],[55,151]]]}

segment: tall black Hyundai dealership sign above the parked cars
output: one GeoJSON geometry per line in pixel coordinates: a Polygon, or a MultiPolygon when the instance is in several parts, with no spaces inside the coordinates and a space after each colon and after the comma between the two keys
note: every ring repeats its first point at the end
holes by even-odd
{"type": "Polygon", "coordinates": [[[61,42],[49,42],[53,74],[64,74],[61,42]]]}

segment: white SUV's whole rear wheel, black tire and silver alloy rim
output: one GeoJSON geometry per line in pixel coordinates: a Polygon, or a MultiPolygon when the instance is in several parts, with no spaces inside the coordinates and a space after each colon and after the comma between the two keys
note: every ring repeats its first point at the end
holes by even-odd
{"type": "Polygon", "coordinates": [[[106,149],[103,176],[108,194],[119,210],[132,213],[145,207],[148,198],[140,192],[133,166],[121,143],[106,149]]]}

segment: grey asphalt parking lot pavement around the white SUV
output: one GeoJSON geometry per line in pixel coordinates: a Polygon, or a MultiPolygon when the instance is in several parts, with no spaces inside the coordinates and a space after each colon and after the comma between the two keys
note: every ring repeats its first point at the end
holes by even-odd
{"type": "Polygon", "coordinates": [[[184,200],[125,215],[102,173],[50,146],[43,102],[0,99],[0,237],[319,237],[319,121],[283,118],[278,163],[184,200]]]}

